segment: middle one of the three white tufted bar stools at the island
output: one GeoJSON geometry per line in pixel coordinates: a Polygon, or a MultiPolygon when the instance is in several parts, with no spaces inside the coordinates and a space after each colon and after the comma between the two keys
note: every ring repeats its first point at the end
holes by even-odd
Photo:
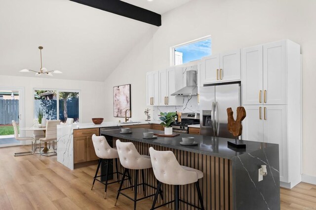
{"type": "MultiPolygon", "coordinates": [[[[117,205],[119,194],[122,194],[123,196],[129,198],[130,200],[134,202],[134,210],[136,210],[137,201],[140,201],[140,200],[143,200],[145,198],[149,198],[155,195],[155,194],[148,195],[148,196],[145,195],[144,197],[137,199],[137,186],[142,185],[144,193],[145,193],[145,185],[156,189],[155,187],[145,183],[144,169],[152,168],[150,156],[139,154],[134,144],[131,142],[121,142],[117,140],[116,145],[118,148],[119,162],[125,168],[124,173],[123,173],[123,178],[126,176],[126,173],[128,172],[128,170],[135,170],[135,177],[134,177],[134,186],[126,187],[122,189],[123,181],[120,182],[118,195],[117,195],[117,201],[115,203],[115,206],[117,205]],[[140,184],[138,184],[138,171],[139,170],[142,171],[142,181],[143,181],[140,184]],[[134,198],[131,198],[121,192],[122,190],[132,188],[132,187],[134,187],[134,198]]],[[[161,199],[162,199],[163,197],[162,197],[161,190],[158,191],[158,194],[160,194],[161,199]]]]}

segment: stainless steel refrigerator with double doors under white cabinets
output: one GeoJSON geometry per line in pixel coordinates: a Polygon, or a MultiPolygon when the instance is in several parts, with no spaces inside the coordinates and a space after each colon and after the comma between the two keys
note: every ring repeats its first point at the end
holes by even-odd
{"type": "Polygon", "coordinates": [[[241,105],[240,83],[223,83],[201,87],[200,134],[235,139],[228,131],[227,111],[231,107],[236,119],[237,107],[241,105]]]}

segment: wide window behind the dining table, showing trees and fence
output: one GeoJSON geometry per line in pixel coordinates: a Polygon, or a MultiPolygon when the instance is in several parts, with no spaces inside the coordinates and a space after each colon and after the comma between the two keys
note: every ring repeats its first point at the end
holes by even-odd
{"type": "Polygon", "coordinates": [[[34,90],[34,118],[39,111],[47,120],[66,122],[73,118],[79,122],[79,91],[34,90]],[[57,115],[58,113],[58,115],[57,115]]]}

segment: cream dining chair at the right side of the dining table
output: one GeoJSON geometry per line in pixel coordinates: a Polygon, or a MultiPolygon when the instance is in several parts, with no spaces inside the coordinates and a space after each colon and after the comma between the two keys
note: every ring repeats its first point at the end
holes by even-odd
{"type": "Polygon", "coordinates": [[[49,153],[41,153],[40,152],[41,155],[52,156],[52,155],[57,154],[55,152],[54,142],[57,141],[57,125],[59,125],[59,124],[60,124],[60,120],[47,120],[45,137],[40,138],[40,143],[52,142],[53,143],[53,152],[49,152],[49,153]]]}

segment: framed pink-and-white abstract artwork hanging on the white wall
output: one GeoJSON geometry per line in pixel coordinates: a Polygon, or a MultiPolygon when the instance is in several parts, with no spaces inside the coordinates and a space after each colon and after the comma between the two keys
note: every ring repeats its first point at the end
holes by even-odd
{"type": "Polygon", "coordinates": [[[125,117],[126,110],[126,117],[131,117],[130,84],[113,87],[113,110],[114,117],[125,117]]]}

